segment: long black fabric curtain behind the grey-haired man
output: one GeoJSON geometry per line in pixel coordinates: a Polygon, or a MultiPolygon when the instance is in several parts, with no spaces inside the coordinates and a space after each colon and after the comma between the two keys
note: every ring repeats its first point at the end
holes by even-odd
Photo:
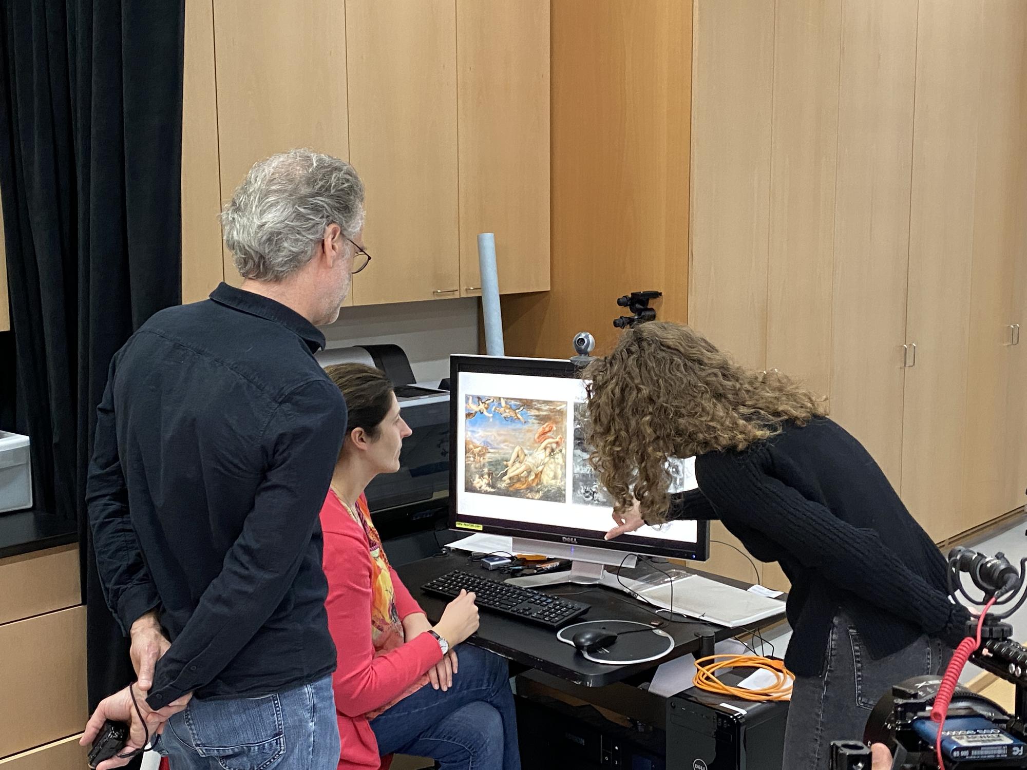
{"type": "Polygon", "coordinates": [[[184,0],[0,11],[0,195],[37,508],[77,521],[90,708],[134,679],[84,508],[111,356],[181,302],[184,0]]]}

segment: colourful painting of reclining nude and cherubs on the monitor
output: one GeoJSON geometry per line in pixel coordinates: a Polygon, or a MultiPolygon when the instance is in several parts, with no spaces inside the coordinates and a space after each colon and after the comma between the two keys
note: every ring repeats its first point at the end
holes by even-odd
{"type": "Polygon", "coordinates": [[[564,502],[567,402],[468,395],[464,489],[564,502]]]}

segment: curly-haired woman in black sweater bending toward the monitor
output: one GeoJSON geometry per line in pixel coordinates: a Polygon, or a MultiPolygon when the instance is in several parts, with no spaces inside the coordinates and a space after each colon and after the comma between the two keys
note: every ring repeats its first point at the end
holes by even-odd
{"type": "Polygon", "coordinates": [[[862,736],[893,683],[943,668],[969,615],[948,599],[938,548],[822,399],[657,321],[626,331],[584,377],[592,462],[616,507],[608,537],[719,518],[792,581],[785,767],[827,768],[830,742],[862,736]],[[693,455],[698,491],[669,495],[667,459],[693,455]]]}

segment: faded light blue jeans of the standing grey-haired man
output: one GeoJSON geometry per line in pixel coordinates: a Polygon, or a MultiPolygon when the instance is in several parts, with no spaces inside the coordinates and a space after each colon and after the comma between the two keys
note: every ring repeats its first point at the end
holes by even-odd
{"type": "Polygon", "coordinates": [[[334,770],[332,678],[260,698],[193,698],[167,721],[156,748],[175,770],[334,770]]]}

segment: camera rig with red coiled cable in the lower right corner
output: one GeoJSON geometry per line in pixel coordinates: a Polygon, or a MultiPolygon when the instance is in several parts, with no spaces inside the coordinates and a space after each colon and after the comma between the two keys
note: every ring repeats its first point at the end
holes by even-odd
{"type": "Polygon", "coordinates": [[[895,685],[871,713],[865,743],[831,744],[832,770],[870,770],[867,746],[872,743],[888,746],[892,770],[1027,768],[1027,648],[1011,639],[1013,627],[1004,622],[1027,600],[1021,590],[1025,569],[1027,559],[1018,571],[1002,553],[988,556],[959,547],[949,552],[950,595],[957,604],[963,604],[961,596],[966,604],[983,606],[983,613],[967,624],[966,639],[945,677],[914,677],[895,685]],[[982,599],[967,592],[963,575],[984,592],[982,599]],[[957,686],[967,659],[1013,683],[1013,714],[957,686]]]}

